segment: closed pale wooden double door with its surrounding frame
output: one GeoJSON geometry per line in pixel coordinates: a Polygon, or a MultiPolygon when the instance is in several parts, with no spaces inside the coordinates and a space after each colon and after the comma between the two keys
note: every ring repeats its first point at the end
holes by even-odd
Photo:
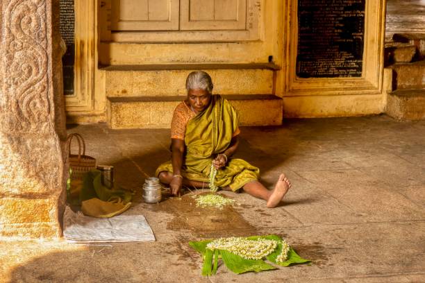
{"type": "Polygon", "coordinates": [[[265,5],[265,0],[102,1],[101,40],[114,42],[258,40],[265,5]]]}

